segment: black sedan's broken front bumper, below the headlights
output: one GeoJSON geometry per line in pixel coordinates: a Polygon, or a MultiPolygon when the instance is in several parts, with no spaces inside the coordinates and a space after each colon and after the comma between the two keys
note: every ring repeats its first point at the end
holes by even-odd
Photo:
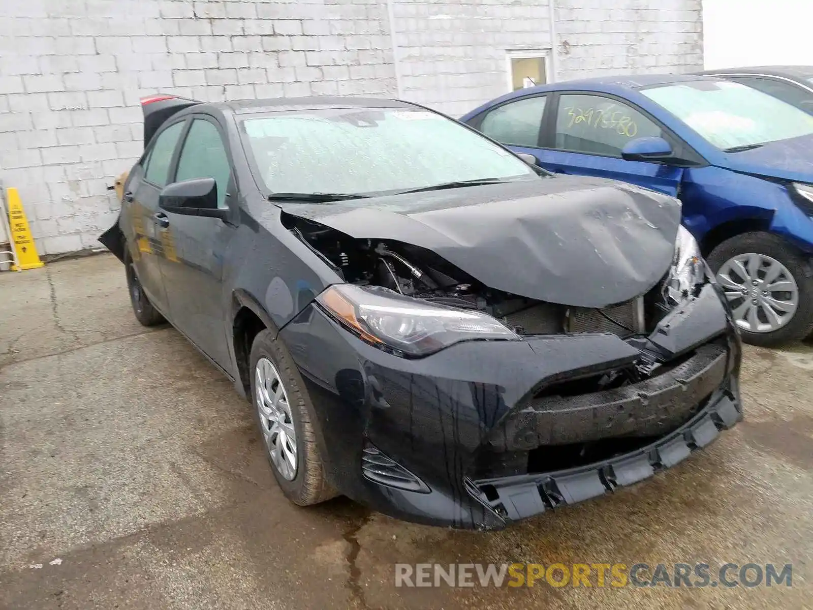
{"type": "Polygon", "coordinates": [[[714,285],[649,336],[463,342],[404,359],[312,303],[280,330],[328,479],[391,516],[499,529],[632,485],[741,419],[741,343],[714,285]],[[640,378],[606,386],[598,378],[640,378]]]}

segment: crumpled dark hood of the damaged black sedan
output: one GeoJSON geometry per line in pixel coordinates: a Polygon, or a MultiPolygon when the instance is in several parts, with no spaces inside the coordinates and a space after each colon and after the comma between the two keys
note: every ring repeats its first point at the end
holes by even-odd
{"type": "Polygon", "coordinates": [[[426,248],[490,288],[576,307],[649,290],[680,225],[677,199],[585,177],[280,207],[350,237],[426,248]]]}

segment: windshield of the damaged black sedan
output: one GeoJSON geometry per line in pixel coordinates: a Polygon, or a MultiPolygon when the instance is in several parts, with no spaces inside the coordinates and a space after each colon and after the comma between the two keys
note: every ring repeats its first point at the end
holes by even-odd
{"type": "Polygon", "coordinates": [[[241,131],[271,193],[380,194],[538,177],[485,137],[420,109],[277,112],[244,120],[241,131]]]}

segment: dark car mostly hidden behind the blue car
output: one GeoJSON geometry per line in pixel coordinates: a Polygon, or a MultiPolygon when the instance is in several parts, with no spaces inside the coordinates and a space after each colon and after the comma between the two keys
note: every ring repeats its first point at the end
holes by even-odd
{"type": "Polygon", "coordinates": [[[759,89],[813,115],[813,66],[755,66],[724,68],[698,74],[721,76],[759,89]]]}

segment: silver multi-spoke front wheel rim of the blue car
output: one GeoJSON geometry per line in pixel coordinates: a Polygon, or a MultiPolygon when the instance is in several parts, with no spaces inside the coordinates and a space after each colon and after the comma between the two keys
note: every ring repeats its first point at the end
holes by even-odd
{"type": "Polygon", "coordinates": [[[799,290],[793,274],[770,256],[754,252],[733,256],[720,271],[737,326],[750,333],[772,333],[793,318],[799,290]]]}

